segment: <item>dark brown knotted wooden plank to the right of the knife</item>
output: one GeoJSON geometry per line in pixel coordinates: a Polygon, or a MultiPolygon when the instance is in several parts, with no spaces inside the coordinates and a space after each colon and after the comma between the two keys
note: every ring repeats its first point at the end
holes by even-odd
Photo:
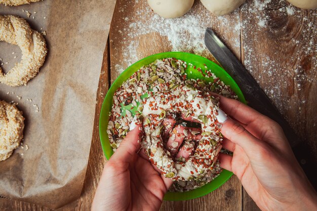
{"type": "MultiPolygon", "coordinates": [[[[316,10],[286,1],[247,1],[241,9],[242,61],[317,160],[316,10]]],[[[244,210],[259,210],[244,191],[244,210]]]]}

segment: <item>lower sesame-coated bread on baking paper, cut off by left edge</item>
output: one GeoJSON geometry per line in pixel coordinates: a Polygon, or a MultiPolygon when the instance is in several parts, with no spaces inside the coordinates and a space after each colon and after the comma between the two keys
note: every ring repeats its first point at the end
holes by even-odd
{"type": "Polygon", "coordinates": [[[0,101],[0,161],[7,159],[22,138],[24,117],[15,105],[0,101]]]}

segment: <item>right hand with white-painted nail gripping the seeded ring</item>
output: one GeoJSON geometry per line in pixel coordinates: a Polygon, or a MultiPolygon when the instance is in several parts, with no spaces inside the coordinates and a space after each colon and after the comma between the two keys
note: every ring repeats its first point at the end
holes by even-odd
{"type": "Polygon", "coordinates": [[[243,103],[220,96],[221,167],[233,172],[262,210],[317,210],[317,195],[281,126],[243,103]]]}

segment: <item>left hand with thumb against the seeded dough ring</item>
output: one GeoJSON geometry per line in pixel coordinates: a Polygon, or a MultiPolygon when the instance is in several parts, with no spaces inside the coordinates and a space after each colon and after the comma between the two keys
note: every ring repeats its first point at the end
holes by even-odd
{"type": "Polygon", "coordinates": [[[137,125],[106,162],[93,211],[159,210],[172,180],[161,176],[145,156],[137,154],[142,133],[137,125]]]}

